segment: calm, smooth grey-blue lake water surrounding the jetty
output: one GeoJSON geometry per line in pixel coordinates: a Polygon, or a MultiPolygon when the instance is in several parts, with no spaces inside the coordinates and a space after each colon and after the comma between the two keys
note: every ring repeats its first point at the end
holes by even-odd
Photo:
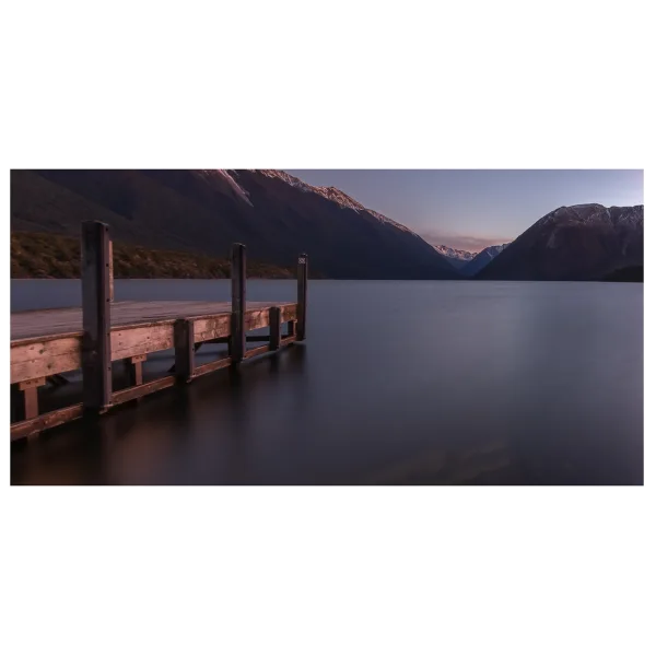
{"type": "MultiPolygon", "coordinates": [[[[12,312],[80,304],[79,281],[11,290],[12,312]]],[[[295,281],[247,295],[294,301],[295,281]]],[[[115,296],[226,301],[230,281],[115,296]]],[[[11,482],[642,484],[643,365],[642,284],[311,281],[303,344],[14,446],[11,482]]]]}

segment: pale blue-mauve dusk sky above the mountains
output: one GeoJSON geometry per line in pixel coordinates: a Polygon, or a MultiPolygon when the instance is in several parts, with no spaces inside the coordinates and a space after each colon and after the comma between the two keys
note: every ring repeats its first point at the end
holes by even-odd
{"type": "Polygon", "coordinates": [[[642,169],[286,172],[337,187],[431,244],[465,250],[511,242],[562,206],[644,202],[642,169]]]}

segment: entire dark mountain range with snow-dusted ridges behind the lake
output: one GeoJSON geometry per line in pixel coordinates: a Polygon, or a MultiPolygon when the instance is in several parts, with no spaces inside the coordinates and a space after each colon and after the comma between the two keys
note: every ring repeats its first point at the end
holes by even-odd
{"type": "Polygon", "coordinates": [[[273,267],[305,251],[323,278],[602,280],[643,266],[643,206],[561,207],[475,254],[431,245],[340,189],[283,171],[11,172],[11,229],[22,244],[26,233],[77,238],[85,220],[108,223],[127,248],[175,251],[185,266],[185,253],[221,259],[234,242],[273,267]]]}

